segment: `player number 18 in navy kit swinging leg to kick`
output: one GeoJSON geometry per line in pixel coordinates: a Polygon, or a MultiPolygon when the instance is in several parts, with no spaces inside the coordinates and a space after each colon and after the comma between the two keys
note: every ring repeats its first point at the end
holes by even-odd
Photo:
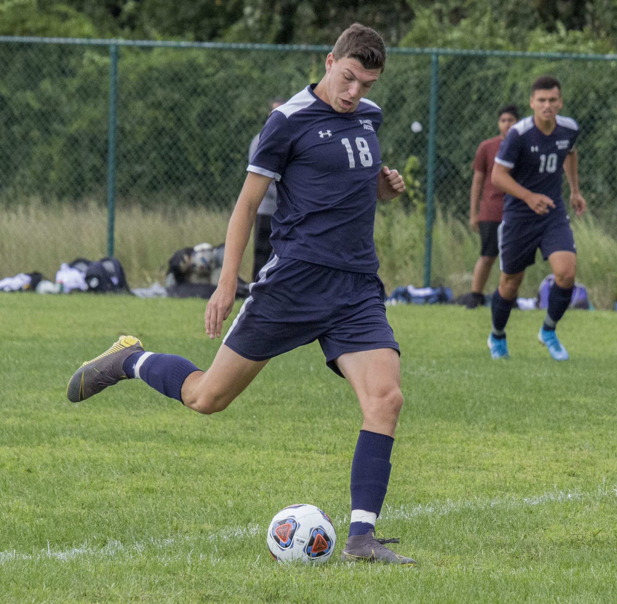
{"type": "Polygon", "coordinates": [[[326,75],[277,107],[263,127],[225,241],[205,330],[220,337],[234,303],[242,252],[271,180],[270,260],[251,284],[209,370],[177,355],[144,352],[123,336],[84,363],[68,399],[87,399],[121,379],[139,378],[200,413],[223,411],[270,358],[318,340],[326,364],[346,378],[364,421],[351,468],[352,512],[343,560],[410,565],[375,539],[390,476],[394,429],[403,397],[399,345],[386,319],[373,241],[378,199],[405,190],[381,167],[381,109],[363,96],[383,72],[386,48],[376,31],[352,25],[326,58],[326,75]]]}

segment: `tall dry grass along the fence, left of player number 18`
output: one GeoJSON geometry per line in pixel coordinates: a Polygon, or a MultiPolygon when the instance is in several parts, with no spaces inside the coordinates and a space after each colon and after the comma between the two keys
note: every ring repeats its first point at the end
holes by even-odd
{"type": "MultiPolygon", "coordinates": [[[[181,247],[225,241],[229,212],[199,208],[147,211],[139,206],[118,209],[115,256],[131,287],[164,283],[167,260],[181,247]]],[[[62,262],[77,257],[97,260],[107,255],[107,210],[91,204],[36,202],[0,212],[0,276],[38,270],[54,279],[62,262]]],[[[252,246],[242,259],[241,276],[252,272],[252,246]]]]}

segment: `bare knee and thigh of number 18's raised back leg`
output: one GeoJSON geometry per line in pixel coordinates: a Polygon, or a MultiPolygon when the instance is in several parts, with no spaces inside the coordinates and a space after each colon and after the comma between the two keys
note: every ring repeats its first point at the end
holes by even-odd
{"type": "Polygon", "coordinates": [[[182,384],[182,402],[199,413],[223,411],[255,379],[268,361],[251,361],[225,344],[207,371],[193,371],[182,384]]]}

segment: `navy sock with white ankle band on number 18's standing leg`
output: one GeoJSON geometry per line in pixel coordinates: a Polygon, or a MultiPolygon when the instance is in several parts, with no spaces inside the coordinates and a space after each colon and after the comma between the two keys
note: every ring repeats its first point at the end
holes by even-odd
{"type": "Polygon", "coordinates": [[[350,537],[375,529],[390,479],[392,444],[391,436],[360,430],[351,464],[350,537]]]}

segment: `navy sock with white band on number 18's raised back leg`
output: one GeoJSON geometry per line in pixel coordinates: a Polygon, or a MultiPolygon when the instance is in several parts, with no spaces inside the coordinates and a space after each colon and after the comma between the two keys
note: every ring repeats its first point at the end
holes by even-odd
{"type": "Polygon", "coordinates": [[[140,378],[161,394],[182,402],[184,380],[199,367],[176,354],[135,352],[123,365],[128,378],[140,378]]]}

